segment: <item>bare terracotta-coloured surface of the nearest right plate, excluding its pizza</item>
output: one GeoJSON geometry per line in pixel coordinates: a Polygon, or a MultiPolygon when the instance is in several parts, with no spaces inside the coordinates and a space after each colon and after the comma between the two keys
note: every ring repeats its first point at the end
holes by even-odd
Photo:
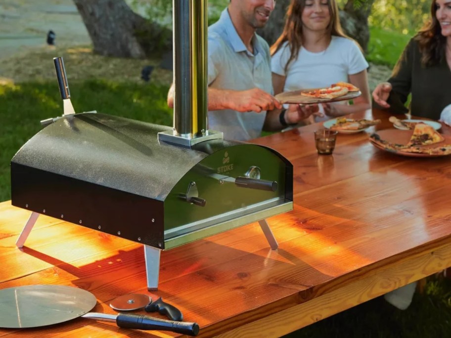
{"type": "MultiPolygon", "coordinates": [[[[377,134],[379,137],[384,140],[388,141],[390,143],[397,143],[397,144],[407,144],[410,140],[410,137],[413,134],[413,130],[401,130],[401,129],[384,129],[384,130],[378,130],[377,134]]],[[[437,148],[441,145],[445,144],[451,144],[451,135],[443,135],[445,138],[444,141],[434,144],[429,144],[426,146],[422,146],[425,149],[428,148],[437,148]]],[[[451,154],[422,154],[422,153],[407,153],[403,152],[402,150],[394,150],[394,149],[387,149],[382,144],[378,143],[377,141],[373,140],[372,138],[369,139],[371,141],[371,144],[375,146],[378,149],[387,151],[389,153],[401,155],[401,156],[407,156],[407,157],[443,157],[443,156],[449,156],[451,154]]]]}

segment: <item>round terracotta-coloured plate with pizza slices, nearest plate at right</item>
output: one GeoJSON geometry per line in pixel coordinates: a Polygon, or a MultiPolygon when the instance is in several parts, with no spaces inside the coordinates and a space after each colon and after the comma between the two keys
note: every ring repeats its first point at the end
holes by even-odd
{"type": "Polygon", "coordinates": [[[409,157],[451,155],[451,135],[442,135],[433,127],[418,123],[413,130],[384,129],[370,136],[379,149],[409,157]]]}

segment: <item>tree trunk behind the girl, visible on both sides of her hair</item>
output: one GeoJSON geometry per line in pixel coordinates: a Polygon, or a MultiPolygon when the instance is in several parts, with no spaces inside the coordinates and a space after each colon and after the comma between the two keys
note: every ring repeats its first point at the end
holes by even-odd
{"type": "MultiPolygon", "coordinates": [[[[340,10],[340,22],[343,30],[351,38],[360,43],[366,52],[369,41],[368,16],[374,0],[358,1],[348,0],[343,10],[340,10]]],[[[270,45],[282,34],[285,25],[285,13],[290,0],[277,0],[270,20],[264,29],[259,29],[257,33],[261,35],[270,45]]]]}

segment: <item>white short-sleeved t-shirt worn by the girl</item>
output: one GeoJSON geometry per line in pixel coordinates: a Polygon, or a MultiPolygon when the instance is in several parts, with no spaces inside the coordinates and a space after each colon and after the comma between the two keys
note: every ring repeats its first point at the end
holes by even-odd
{"type": "MultiPolygon", "coordinates": [[[[288,42],[271,58],[272,73],[285,76],[283,91],[328,87],[331,84],[349,82],[349,75],[360,73],[368,68],[359,46],[353,40],[332,36],[329,46],[321,52],[311,52],[301,47],[298,57],[291,60],[288,42]]],[[[337,102],[338,103],[338,102],[337,102]]],[[[340,102],[346,104],[346,101],[340,102]]],[[[320,112],[323,112],[320,106],[320,112]]],[[[324,121],[328,117],[316,117],[315,121],[324,121]]]]}

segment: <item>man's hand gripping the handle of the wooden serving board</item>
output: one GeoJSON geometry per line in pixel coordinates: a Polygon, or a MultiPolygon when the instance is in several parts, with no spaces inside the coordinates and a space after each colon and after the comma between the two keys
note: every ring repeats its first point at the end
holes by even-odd
{"type": "Polygon", "coordinates": [[[282,105],[271,94],[260,88],[252,88],[241,91],[231,91],[231,95],[227,97],[230,109],[238,112],[262,112],[265,110],[280,109],[282,105]]]}

